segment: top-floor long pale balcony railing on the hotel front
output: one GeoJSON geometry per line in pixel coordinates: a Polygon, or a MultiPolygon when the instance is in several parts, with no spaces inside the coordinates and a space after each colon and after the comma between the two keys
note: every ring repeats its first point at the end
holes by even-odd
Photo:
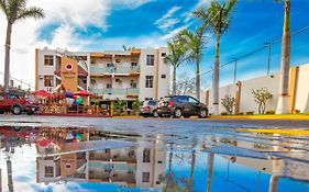
{"type": "Polygon", "coordinates": [[[140,66],[123,66],[123,67],[91,67],[91,75],[104,74],[137,74],[140,66]]]}

